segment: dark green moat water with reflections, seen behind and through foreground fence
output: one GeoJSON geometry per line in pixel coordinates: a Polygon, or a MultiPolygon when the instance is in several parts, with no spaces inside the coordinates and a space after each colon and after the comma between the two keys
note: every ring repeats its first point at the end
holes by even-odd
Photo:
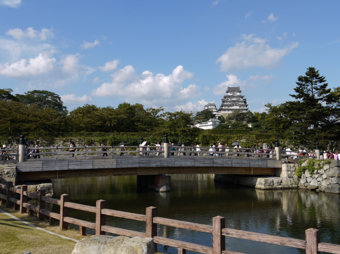
{"type": "MultiPolygon", "coordinates": [[[[304,239],[305,230],[313,227],[321,229],[322,242],[340,244],[337,194],[243,188],[216,183],[213,175],[171,175],[171,191],[164,193],[137,188],[136,176],[58,179],[54,181],[54,193],[56,197],[67,193],[70,202],[89,206],[104,199],[107,208],[139,214],[145,214],[148,206],[156,206],[158,216],[202,224],[211,225],[212,218],[220,215],[229,228],[299,239],[304,239]]],[[[88,212],[70,209],[70,216],[95,221],[94,214],[88,212]]],[[[107,224],[145,232],[143,222],[109,217],[107,224]]],[[[87,232],[91,233],[89,229],[87,232]]],[[[158,235],[212,244],[210,234],[168,226],[158,225],[158,235]]],[[[301,252],[237,238],[226,238],[226,248],[251,254],[301,252]]],[[[159,250],[177,253],[172,247],[159,246],[159,250]]]]}

